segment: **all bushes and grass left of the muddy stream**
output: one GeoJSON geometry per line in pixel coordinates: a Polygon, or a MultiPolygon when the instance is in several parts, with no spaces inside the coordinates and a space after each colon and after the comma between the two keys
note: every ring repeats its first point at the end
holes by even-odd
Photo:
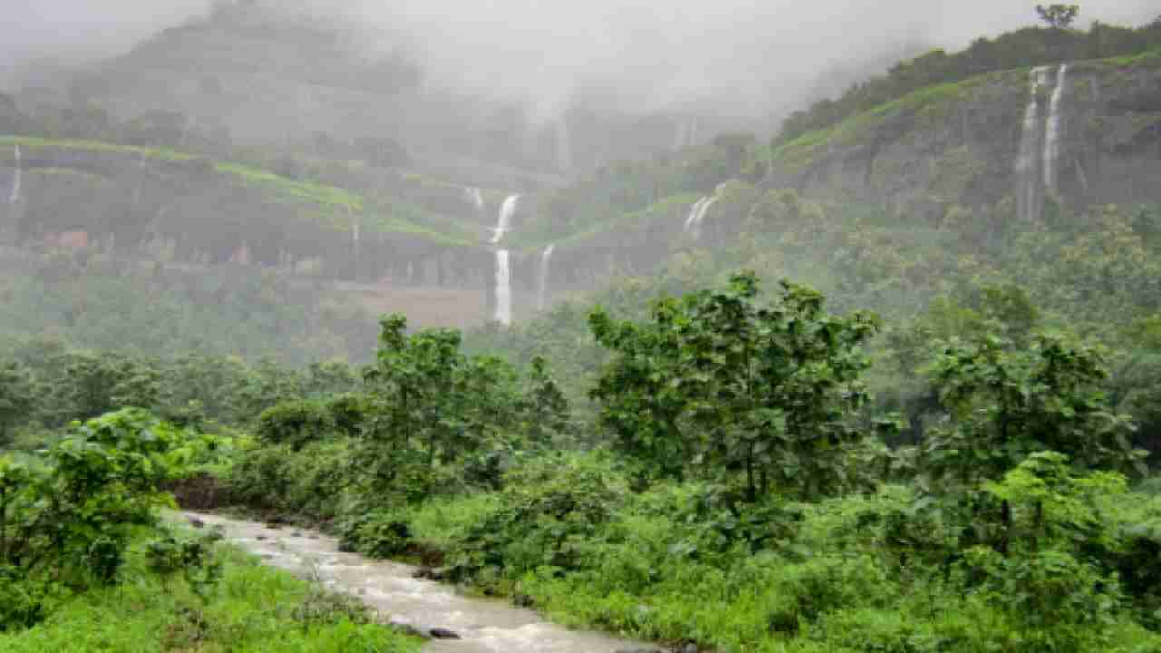
{"type": "Polygon", "coordinates": [[[161,521],[163,486],[221,444],[124,409],[0,457],[0,648],[418,648],[356,602],[161,521]]]}

